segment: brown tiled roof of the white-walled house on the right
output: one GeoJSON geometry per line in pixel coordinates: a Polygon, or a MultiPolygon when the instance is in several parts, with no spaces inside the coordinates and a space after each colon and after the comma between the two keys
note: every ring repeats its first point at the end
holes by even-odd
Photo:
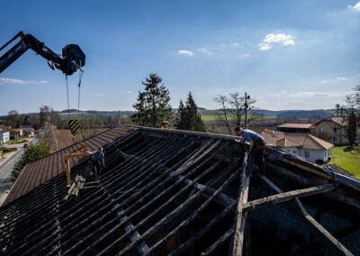
{"type": "Polygon", "coordinates": [[[261,133],[267,144],[278,147],[302,147],[308,150],[329,150],[334,145],[309,133],[261,133]]]}

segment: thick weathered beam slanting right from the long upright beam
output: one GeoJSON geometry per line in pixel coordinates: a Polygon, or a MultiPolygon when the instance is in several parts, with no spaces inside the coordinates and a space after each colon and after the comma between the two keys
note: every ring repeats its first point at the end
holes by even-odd
{"type": "Polygon", "coordinates": [[[244,204],[244,211],[252,211],[264,206],[280,204],[293,199],[294,197],[309,197],[318,195],[321,193],[327,193],[338,187],[337,183],[320,185],[317,187],[309,187],[303,189],[297,189],[289,192],[284,192],[270,197],[263,197],[257,200],[253,200],[244,204]]]}

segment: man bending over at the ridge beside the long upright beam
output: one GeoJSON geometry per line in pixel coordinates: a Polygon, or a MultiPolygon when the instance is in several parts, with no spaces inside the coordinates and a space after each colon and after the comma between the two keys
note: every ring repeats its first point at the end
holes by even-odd
{"type": "Polygon", "coordinates": [[[241,136],[243,141],[249,142],[250,147],[248,149],[247,170],[251,172],[254,160],[259,166],[259,173],[265,175],[265,146],[266,141],[259,134],[251,130],[244,130],[241,127],[235,127],[235,133],[237,136],[241,136]]]}

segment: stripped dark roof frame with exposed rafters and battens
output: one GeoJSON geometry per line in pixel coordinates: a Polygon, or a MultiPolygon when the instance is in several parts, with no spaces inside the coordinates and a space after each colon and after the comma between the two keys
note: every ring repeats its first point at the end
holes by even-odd
{"type": "Polygon", "coordinates": [[[360,254],[358,179],[274,147],[262,176],[247,169],[248,145],[236,137],[138,128],[116,128],[129,133],[107,143],[98,182],[77,161],[71,193],[48,164],[57,175],[0,208],[0,251],[360,254]]]}

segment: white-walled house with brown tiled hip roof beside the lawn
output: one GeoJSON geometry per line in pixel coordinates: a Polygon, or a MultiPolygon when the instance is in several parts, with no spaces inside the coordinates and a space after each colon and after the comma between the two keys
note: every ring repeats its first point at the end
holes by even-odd
{"type": "Polygon", "coordinates": [[[267,144],[289,151],[312,162],[328,162],[333,144],[309,133],[261,133],[267,144]]]}

